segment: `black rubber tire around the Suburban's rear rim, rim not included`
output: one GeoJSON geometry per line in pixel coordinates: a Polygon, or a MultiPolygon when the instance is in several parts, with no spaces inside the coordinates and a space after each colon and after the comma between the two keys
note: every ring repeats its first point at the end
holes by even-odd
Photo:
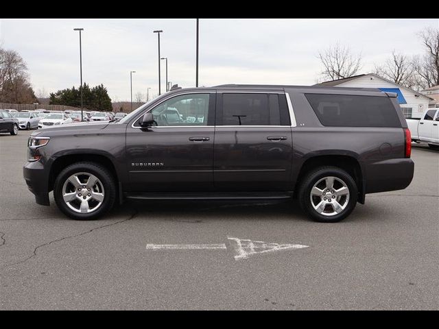
{"type": "MultiPolygon", "coordinates": [[[[353,180],[351,175],[349,175],[346,171],[337,167],[320,167],[310,171],[302,180],[298,193],[298,200],[302,210],[305,211],[307,215],[309,215],[309,217],[311,217],[314,221],[319,221],[322,223],[335,223],[337,221],[341,221],[342,219],[348,217],[348,215],[351,214],[357,205],[358,195],[355,180],[353,180]],[[330,176],[338,178],[346,184],[349,192],[349,198],[348,201],[345,199],[346,207],[344,210],[342,210],[340,213],[337,213],[337,215],[321,215],[311,204],[311,189],[319,180],[330,176]]],[[[327,209],[326,206],[324,209],[327,209]]]]}

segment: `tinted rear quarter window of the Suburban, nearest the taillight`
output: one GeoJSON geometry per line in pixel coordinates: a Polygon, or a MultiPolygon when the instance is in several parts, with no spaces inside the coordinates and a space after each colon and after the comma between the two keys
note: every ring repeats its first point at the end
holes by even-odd
{"type": "Polygon", "coordinates": [[[305,94],[320,123],[330,127],[401,127],[389,97],[305,94]]]}

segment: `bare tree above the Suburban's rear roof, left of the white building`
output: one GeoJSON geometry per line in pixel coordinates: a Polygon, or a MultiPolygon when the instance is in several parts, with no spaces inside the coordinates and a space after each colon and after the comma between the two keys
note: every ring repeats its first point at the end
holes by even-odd
{"type": "Polygon", "coordinates": [[[361,53],[354,55],[351,49],[338,43],[324,51],[319,51],[318,58],[324,66],[322,77],[327,80],[352,77],[361,69],[361,53]]]}

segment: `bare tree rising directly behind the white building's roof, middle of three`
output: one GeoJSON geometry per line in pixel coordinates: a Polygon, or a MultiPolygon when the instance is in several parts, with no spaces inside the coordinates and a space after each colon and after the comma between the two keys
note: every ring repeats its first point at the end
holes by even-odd
{"type": "Polygon", "coordinates": [[[407,88],[414,88],[417,84],[412,61],[395,50],[392,51],[392,58],[385,60],[381,66],[375,66],[375,73],[407,88]]]}

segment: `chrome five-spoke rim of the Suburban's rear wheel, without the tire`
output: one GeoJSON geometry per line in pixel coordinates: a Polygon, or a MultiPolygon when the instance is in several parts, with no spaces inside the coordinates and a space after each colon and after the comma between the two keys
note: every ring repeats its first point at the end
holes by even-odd
{"type": "Polygon", "coordinates": [[[349,188],[340,178],[328,176],[311,188],[311,205],[320,215],[340,214],[349,202],[349,188]]]}

